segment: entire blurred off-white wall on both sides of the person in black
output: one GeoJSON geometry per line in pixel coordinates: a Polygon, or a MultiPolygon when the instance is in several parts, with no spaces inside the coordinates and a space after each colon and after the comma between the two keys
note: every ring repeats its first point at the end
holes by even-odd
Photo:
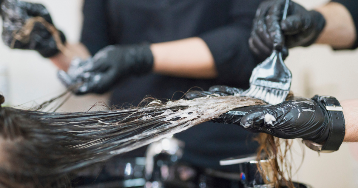
{"type": "MultiPolygon", "coordinates": [[[[63,30],[69,42],[78,42],[81,32],[81,0],[33,0],[47,6],[55,25],[63,30]]],[[[306,8],[322,5],[327,0],[296,0],[306,8]]],[[[333,51],[325,45],[290,50],[286,60],[293,75],[292,91],[296,95],[332,95],[339,100],[358,98],[358,52],[333,51]]],[[[36,52],[10,50],[0,42],[0,66],[9,73],[10,105],[33,106],[65,91],[56,78],[57,69],[36,52]]],[[[150,93],[148,93],[150,94],[150,93]]],[[[83,111],[108,96],[72,97],[61,110],[83,111]]],[[[296,142],[297,143],[297,142],[296,142]]],[[[294,145],[295,163],[300,163],[300,146],[294,145]],[[298,153],[298,154],[297,154],[298,153]]],[[[294,176],[314,188],[358,187],[358,164],[349,153],[348,144],[338,152],[320,154],[305,149],[302,167],[294,176]]]]}

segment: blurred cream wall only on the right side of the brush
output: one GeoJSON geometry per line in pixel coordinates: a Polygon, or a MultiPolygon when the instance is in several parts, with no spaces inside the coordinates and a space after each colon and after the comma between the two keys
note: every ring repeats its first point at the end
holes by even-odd
{"type": "MultiPolygon", "coordinates": [[[[309,9],[327,2],[295,1],[309,9]]],[[[299,47],[290,50],[286,64],[292,72],[292,91],[296,95],[331,95],[338,100],[358,98],[357,50],[333,51],[326,45],[299,47]]],[[[294,151],[301,151],[298,143],[295,142],[294,151]]],[[[357,145],[353,147],[354,150],[358,149],[357,145]]],[[[295,164],[300,164],[301,155],[294,156],[295,164]]],[[[330,154],[318,155],[305,148],[304,162],[294,179],[309,183],[314,188],[358,187],[358,163],[350,154],[347,143],[339,151],[330,154]]]]}

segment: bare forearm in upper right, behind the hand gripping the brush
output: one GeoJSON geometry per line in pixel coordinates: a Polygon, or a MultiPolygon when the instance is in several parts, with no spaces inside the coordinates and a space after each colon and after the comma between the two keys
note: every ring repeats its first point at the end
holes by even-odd
{"type": "Polygon", "coordinates": [[[352,15],[342,4],[331,2],[316,9],[325,20],[326,25],[316,43],[329,44],[334,49],[348,49],[357,39],[352,15]]]}

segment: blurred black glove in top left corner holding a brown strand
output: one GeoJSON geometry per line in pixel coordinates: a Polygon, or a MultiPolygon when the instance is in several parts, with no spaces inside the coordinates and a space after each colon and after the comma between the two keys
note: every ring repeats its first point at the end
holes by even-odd
{"type": "MultiPolygon", "coordinates": [[[[53,24],[51,16],[45,6],[36,3],[27,3],[18,0],[4,0],[1,5],[3,19],[2,38],[6,45],[11,47],[14,34],[23,28],[26,20],[41,16],[48,23],[53,24]]],[[[59,31],[62,43],[66,41],[64,34],[59,31]]],[[[28,39],[16,40],[14,48],[37,50],[43,57],[52,57],[59,50],[51,33],[42,23],[35,23],[28,39]]]]}

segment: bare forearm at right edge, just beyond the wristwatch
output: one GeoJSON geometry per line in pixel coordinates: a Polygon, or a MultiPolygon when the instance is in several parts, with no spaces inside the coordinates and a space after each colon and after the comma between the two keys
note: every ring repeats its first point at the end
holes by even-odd
{"type": "Polygon", "coordinates": [[[345,142],[358,142],[358,100],[340,102],[345,120],[345,142]]]}

